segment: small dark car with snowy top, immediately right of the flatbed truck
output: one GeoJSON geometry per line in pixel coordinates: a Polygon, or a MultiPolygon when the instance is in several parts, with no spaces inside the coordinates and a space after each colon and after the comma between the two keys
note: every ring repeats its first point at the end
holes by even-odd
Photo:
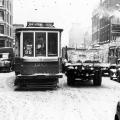
{"type": "Polygon", "coordinates": [[[109,76],[110,63],[101,63],[102,76],[109,76]]]}

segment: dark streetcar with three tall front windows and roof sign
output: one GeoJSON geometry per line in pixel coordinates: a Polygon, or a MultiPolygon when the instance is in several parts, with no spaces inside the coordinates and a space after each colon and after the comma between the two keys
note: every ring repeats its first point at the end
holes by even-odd
{"type": "Polygon", "coordinates": [[[61,33],[51,22],[27,22],[16,29],[15,85],[56,88],[62,78],[61,33]]]}

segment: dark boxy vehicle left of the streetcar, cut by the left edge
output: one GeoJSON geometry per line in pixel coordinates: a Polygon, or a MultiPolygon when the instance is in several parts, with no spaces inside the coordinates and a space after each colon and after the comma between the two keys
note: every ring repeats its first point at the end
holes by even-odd
{"type": "Polygon", "coordinates": [[[11,47],[0,48],[0,71],[10,72],[14,70],[14,52],[11,47]]]}

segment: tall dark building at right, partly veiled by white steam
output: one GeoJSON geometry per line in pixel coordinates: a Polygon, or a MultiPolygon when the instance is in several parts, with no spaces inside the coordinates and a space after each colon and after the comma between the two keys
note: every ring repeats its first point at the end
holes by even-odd
{"type": "Polygon", "coordinates": [[[104,0],[100,2],[92,15],[93,45],[105,44],[120,37],[120,0],[104,0]]]}

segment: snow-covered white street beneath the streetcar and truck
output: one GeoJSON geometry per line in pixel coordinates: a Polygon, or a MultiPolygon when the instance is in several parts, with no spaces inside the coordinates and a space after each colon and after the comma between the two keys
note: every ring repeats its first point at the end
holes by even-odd
{"type": "Polygon", "coordinates": [[[14,72],[0,73],[0,120],[114,120],[120,83],[103,77],[69,87],[64,76],[57,90],[15,91],[14,72]]]}

